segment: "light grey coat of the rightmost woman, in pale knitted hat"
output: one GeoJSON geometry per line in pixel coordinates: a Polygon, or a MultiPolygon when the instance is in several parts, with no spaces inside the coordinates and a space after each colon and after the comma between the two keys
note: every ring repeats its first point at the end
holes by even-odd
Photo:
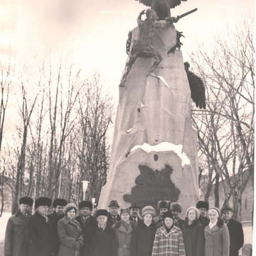
{"type": "Polygon", "coordinates": [[[205,227],[205,256],[229,256],[229,231],[222,219],[212,229],[205,227]]]}

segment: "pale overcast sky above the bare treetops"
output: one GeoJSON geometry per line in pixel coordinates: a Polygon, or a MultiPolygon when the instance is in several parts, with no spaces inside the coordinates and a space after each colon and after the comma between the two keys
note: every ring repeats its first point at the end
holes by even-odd
{"type": "MultiPolygon", "coordinates": [[[[210,45],[212,35],[225,33],[237,19],[254,16],[254,0],[188,0],[171,10],[177,16],[198,8],[175,25],[183,31],[184,61],[196,42],[210,45]]],[[[146,6],[134,0],[1,0],[1,57],[33,61],[72,58],[88,73],[99,70],[118,99],[126,61],[125,41],[146,6]]]]}

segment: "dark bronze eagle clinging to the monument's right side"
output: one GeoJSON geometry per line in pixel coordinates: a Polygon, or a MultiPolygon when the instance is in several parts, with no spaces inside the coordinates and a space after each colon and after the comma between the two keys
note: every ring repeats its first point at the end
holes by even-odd
{"type": "Polygon", "coordinates": [[[196,103],[197,108],[206,109],[204,82],[200,77],[188,70],[190,67],[188,62],[185,62],[184,66],[188,77],[192,100],[196,103]]]}

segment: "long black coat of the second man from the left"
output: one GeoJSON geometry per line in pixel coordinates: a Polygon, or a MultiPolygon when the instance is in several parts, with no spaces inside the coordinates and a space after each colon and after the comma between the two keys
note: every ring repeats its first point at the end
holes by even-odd
{"type": "Polygon", "coordinates": [[[27,219],[25,237],[29,243],[29,256],[51,256],[54,255],[54,244],[51,223],[38,211],[27,219]]]}

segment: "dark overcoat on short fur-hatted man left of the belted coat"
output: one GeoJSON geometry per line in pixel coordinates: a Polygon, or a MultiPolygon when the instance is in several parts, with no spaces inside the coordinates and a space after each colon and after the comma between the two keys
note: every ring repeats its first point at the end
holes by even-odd
{"type": "Polygon", "coordinates": [[[115,231],[110,224],[103,231],[95,226],[89,240],[89,256],[116,256],[116,252],[115,231]]]}

